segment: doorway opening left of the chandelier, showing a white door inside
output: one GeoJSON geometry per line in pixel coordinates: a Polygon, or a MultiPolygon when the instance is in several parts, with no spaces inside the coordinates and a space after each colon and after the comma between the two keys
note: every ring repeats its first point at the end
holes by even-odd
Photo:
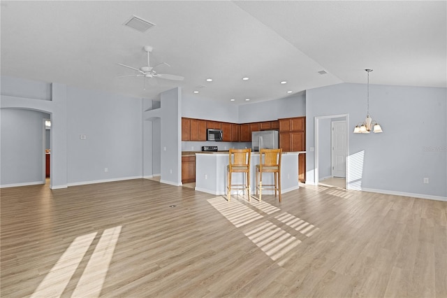
{"type": "Polygon", "coordinates": [[[348,114],[315,117],[316,185],[346,187],[348,166],[348,114]]]}

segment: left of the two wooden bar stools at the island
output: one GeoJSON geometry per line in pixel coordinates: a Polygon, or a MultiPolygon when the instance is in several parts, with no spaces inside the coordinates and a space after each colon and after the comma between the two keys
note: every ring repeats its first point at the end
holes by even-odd
{"type": "Polygon", "coordinates": [[[227,171],[227,197],[228,201],[230,201],[231,197],[231,188],[237,190],[247,190],[247,194],[250,201],[250,154],[251,149],[230,149],[228,154],[228,166],[226,166],[227,171]],[[231,184],[231,174],[232,173],[245,173],[244,184],[231,184]]]}

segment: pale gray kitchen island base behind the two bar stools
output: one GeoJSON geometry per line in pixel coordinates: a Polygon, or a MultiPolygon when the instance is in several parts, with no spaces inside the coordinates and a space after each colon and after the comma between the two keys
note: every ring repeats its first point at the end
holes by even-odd
{"type": "MultiPolygon", "coordinates": [[[[281,157],[281,193],[298,189],[298,154],[283,152],[281,157]]],[[[256,191],[256,164],[259,164],[259,152],[251,152],[250,188],[256,191]]],[[[228,152],[196,153],[196,190],[209,194],[226,194],[228,152]]],[[[242,173],[233,173],[233,184],[243,184],[242,173]]],[[[274,184],[272,173],[263,173],[263,184],[274,184]]],[[[231,194],[241,194],[242,190],[231,190],[231,194]]],[[[263,190],[263,194],[273,194],[273,190],[263,190]]]]}

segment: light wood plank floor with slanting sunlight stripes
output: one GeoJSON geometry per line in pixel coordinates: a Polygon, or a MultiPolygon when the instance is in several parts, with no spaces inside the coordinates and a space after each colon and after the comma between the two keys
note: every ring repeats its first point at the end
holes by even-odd
{"type": "Polygon", "coordinates": [[[1,297],[447,297],[447,203],[137,179],[1,189],[1,297]]]}

